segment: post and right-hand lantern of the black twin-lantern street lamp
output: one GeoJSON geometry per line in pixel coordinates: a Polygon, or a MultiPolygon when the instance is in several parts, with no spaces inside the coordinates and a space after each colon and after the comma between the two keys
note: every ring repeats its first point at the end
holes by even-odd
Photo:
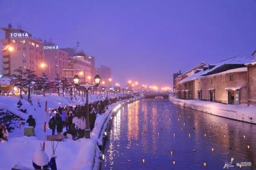
{"type": "Polygon", "coordinates": [[[85,117],[85,120],[86,120],[86,130],[84,131],[84,137],[87,138],[87,139],[90,139],[88,90],[91,87],[94,87],[94,86],[98,87],[99,86],[99,84],[100,84],[100,76],[99,75],[96,75],[94,77],[94,83],[96,85],[88,84],[88,82],[86,81],[86,84],[80,85],[80,86],[83,86],[85,88],[85,90],[86,90],[86,117],[85,117]]]}

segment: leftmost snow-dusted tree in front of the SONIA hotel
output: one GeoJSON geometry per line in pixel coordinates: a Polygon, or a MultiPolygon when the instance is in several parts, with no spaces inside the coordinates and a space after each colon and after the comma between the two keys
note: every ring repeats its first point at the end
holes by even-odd
{"type": "Polygon", "coordinates": [[[22,87],[23,87],[23,82],[24,82],[24,78],[22,78],[23,68],[19,67],[19,68],[15,69],[14,72],[17,72],[18,74],[12,74],[10,76],[10,83],[14,84],[15,86],[17,86],[20,89],[20,98],[23,98],[22,97],[22,87]]]}

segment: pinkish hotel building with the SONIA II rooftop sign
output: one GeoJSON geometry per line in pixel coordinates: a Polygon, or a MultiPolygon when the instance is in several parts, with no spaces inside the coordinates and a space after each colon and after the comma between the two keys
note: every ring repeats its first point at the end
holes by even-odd
{"type": "Polygon", "coordinates": [[[44,54],[44,72],[48,79],[54,80],[56,76],[62,78],[63,70],[68,69],[69,54],[56,44],[46,41],[44,41],[44,54]]]}

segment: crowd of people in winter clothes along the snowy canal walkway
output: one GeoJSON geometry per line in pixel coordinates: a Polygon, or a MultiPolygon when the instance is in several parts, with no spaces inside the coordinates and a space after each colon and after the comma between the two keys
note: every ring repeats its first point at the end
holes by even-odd
{"type": "MultiPolygon", "coordinates": [[[[95,120],[98,114],[104,114],[110,104],[113,104],[119,100],[129,99],[131,96],[105,98],[104,100],[98,100],[88,104],[89,110],[89,125],[90,131],[94,128],[95,120]]],[[[50,120],[48,122],[49,129],[52,130],[52,135],[61,134],[63,129],[66,129],[64,136],[67,138],[76,140],[84,137],[84,131],[86,129],[86,104],[63,107],[59,106],[58,109],[52,110],[50,113],[50,120]]],[[[36,127],[36,120],[30,115],[26,121],[28,126],[36,127]]],[[[8,130],[4,125],[0,124],[0,142],[2,140],[8,141],[8,130]]]]}

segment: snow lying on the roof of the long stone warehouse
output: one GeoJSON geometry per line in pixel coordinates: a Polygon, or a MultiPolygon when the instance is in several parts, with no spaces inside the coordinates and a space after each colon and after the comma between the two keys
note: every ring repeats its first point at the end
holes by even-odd
{"type": "MultiPolygon", "coordinates": [[[[244,63],[246,63],[246,62],[248,62],[250,60],[251,60],[250,58],[246,58],[246,57],[243,57],[243,56],[235,56],[235,57],[232,57],[232,58],[228,58],[226,60],[222,60],[220,62],[217,62],[216,64],[211,64],[211,65],[214,65],[214,67],[211,68],[211,69],[207,69],[205,71],[200,71],[198,73],[194,73],[193,72],[193,74],[191,74],[187,78],[184,78],[183,80],[180,80],[178,83],[186,82],[186,81],[190,81],[190,80],[194,80],[194,79],[200,78],[202,75],[204,75],[204,74],[206,74],[208,72],[211,72],[211,71],[215,70],[216,68],[218,68],[218,67],[220,67],[220,66],[222,66],[224,64],[244,64],[244,63]]],[[[221,72],[221,73],[217,73],[217,74],[226,74],[226,73],[229,73],[229,72],[241,72],[241,71],[247,71],[247,68],[236,68],[236,69],[227,70],[227,71],[224,71],[224,72],[221,72]]],[[[212,74],[212,75],[216,75],[216,74],[212,74]]]]}

